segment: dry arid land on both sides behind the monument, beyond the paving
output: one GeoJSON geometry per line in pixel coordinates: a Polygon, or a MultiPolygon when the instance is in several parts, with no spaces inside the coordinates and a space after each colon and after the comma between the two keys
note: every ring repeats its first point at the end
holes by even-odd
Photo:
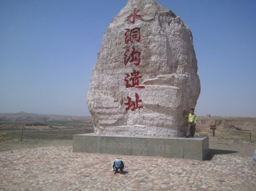
{"type": "MultiPolygon", "coordinates": [[[[74,134],[94,132],[91,117],[0,113],[0,151],[48,146],[72,146],[74,134]]],[[[211,158],[215,154],[253,155],[256,118],[199,117],[196,136],[210,137],[211,158]],[[216,125],[215,136],[210,125],[216,125]]]]}

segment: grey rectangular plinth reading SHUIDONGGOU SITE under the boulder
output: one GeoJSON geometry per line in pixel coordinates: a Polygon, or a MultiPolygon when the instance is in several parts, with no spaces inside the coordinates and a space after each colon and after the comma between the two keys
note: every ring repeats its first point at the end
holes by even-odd
{"type": "Polygon", "coordinates": [[[110,136],[88,133],[73,135],[73,152],[203,160],[209,152],[209,138],[110,136]]]}

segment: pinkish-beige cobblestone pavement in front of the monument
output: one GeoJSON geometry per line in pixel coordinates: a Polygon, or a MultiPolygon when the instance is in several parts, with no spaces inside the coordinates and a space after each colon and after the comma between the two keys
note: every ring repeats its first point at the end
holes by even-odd
{"type": "Polygon", "coordinates": [[[255,190],[252,158],[211,160],[72,152],[52,146],[0,152],[0,190],[255,190]],[[115,158],[123,174],[111,170],[115,158]]]}

